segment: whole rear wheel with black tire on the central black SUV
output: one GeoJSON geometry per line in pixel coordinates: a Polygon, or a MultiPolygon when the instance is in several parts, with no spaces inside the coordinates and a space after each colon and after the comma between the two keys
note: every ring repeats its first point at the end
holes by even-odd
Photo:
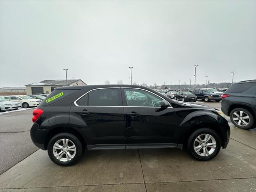
{"type": "Polygon", "coordinates": [[[50,157],[50,159],[52,160],[52,162],[54,162],[57,165],[60,166],[71,166],[76,164],[76,162],[78,162],[78,160],[81,158],[82,154],[83,154],[83,148],[82,148],[82,143],[81,141],[74,136],[73,134],[70,133],[59,133],[56,134],[55,136],[53,136],[51,138],[51,140],[48,143],[48,156],[50,157]],[[66,142],[66,140],[68,139],[68,148],[70,146],[75,146],[75,148],[70,148],[72,150],[68,150],[68,148],[65,147],[65,144],[63,144],[62,139],[65,139],[64,141],[66,142]],[[59,144],[60,148],[53,148],[54,144],[59,144]],[[64,148],[63,148],[64,146],[64,148]],[[66,150],[63,151],[61,154],[61,147],[66,150]],[[75,150],[75,151],[74,151],[75,150]],[[59,156],[61,156],[60,160],[57,159],[55,156],[57,154],[60,154],[59,156]],[[66,155],[69,154],[70,156],[66,155]]]}

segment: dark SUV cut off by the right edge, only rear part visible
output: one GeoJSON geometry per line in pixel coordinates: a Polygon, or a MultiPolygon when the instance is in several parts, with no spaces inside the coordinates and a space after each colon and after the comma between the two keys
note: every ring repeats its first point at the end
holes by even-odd
{"type": "Polygon", "coordinates": [[[221,110],[238,128],[256,127],[256,80],[232,84],[222,95],[221,110]]]}

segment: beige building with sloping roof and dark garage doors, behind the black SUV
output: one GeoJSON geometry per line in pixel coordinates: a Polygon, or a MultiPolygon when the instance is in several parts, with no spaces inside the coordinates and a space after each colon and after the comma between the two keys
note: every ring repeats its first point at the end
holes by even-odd
{"type": "Polygon", "coordinates": [[[87,85],[80,79],[68,79],[66,80],[43,80],[40,82],[32,83],[26,85],[27,94],[50,94],[54,88],[63,86],[80,86],[87,85]]]}

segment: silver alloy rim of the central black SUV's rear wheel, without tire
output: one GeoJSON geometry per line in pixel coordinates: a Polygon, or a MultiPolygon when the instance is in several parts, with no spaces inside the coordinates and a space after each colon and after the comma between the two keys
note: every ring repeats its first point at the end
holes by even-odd
{"type": "Polygon", "coordinates": [[[75,157],[76,146],[69,139],[60,139],[54,143],[52,152],[56,159],[62,162],[67,162],[75,157]]]}

